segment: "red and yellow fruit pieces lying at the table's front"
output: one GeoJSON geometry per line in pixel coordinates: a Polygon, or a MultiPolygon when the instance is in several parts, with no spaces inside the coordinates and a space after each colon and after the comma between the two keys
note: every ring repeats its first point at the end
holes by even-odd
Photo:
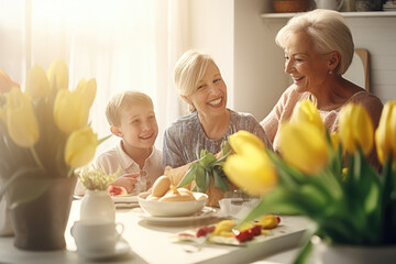
{"type": "Polygon", "coordinates": [[[200,227],[195,233],[179,233],[178,238],[182,241],[206,238],[209,242],[239,244],[253,240],[254,237],[268,234],[270,230],[278,227],[279,222],[280,218],[273,213],[268,213],[257,221],[248,222],[241,227],[237,227],[233,220],[222,220],[215,226],[200,227]],[[237,242],[234,243],[233,241],[222,238],[232,239],[237,242]]]}

